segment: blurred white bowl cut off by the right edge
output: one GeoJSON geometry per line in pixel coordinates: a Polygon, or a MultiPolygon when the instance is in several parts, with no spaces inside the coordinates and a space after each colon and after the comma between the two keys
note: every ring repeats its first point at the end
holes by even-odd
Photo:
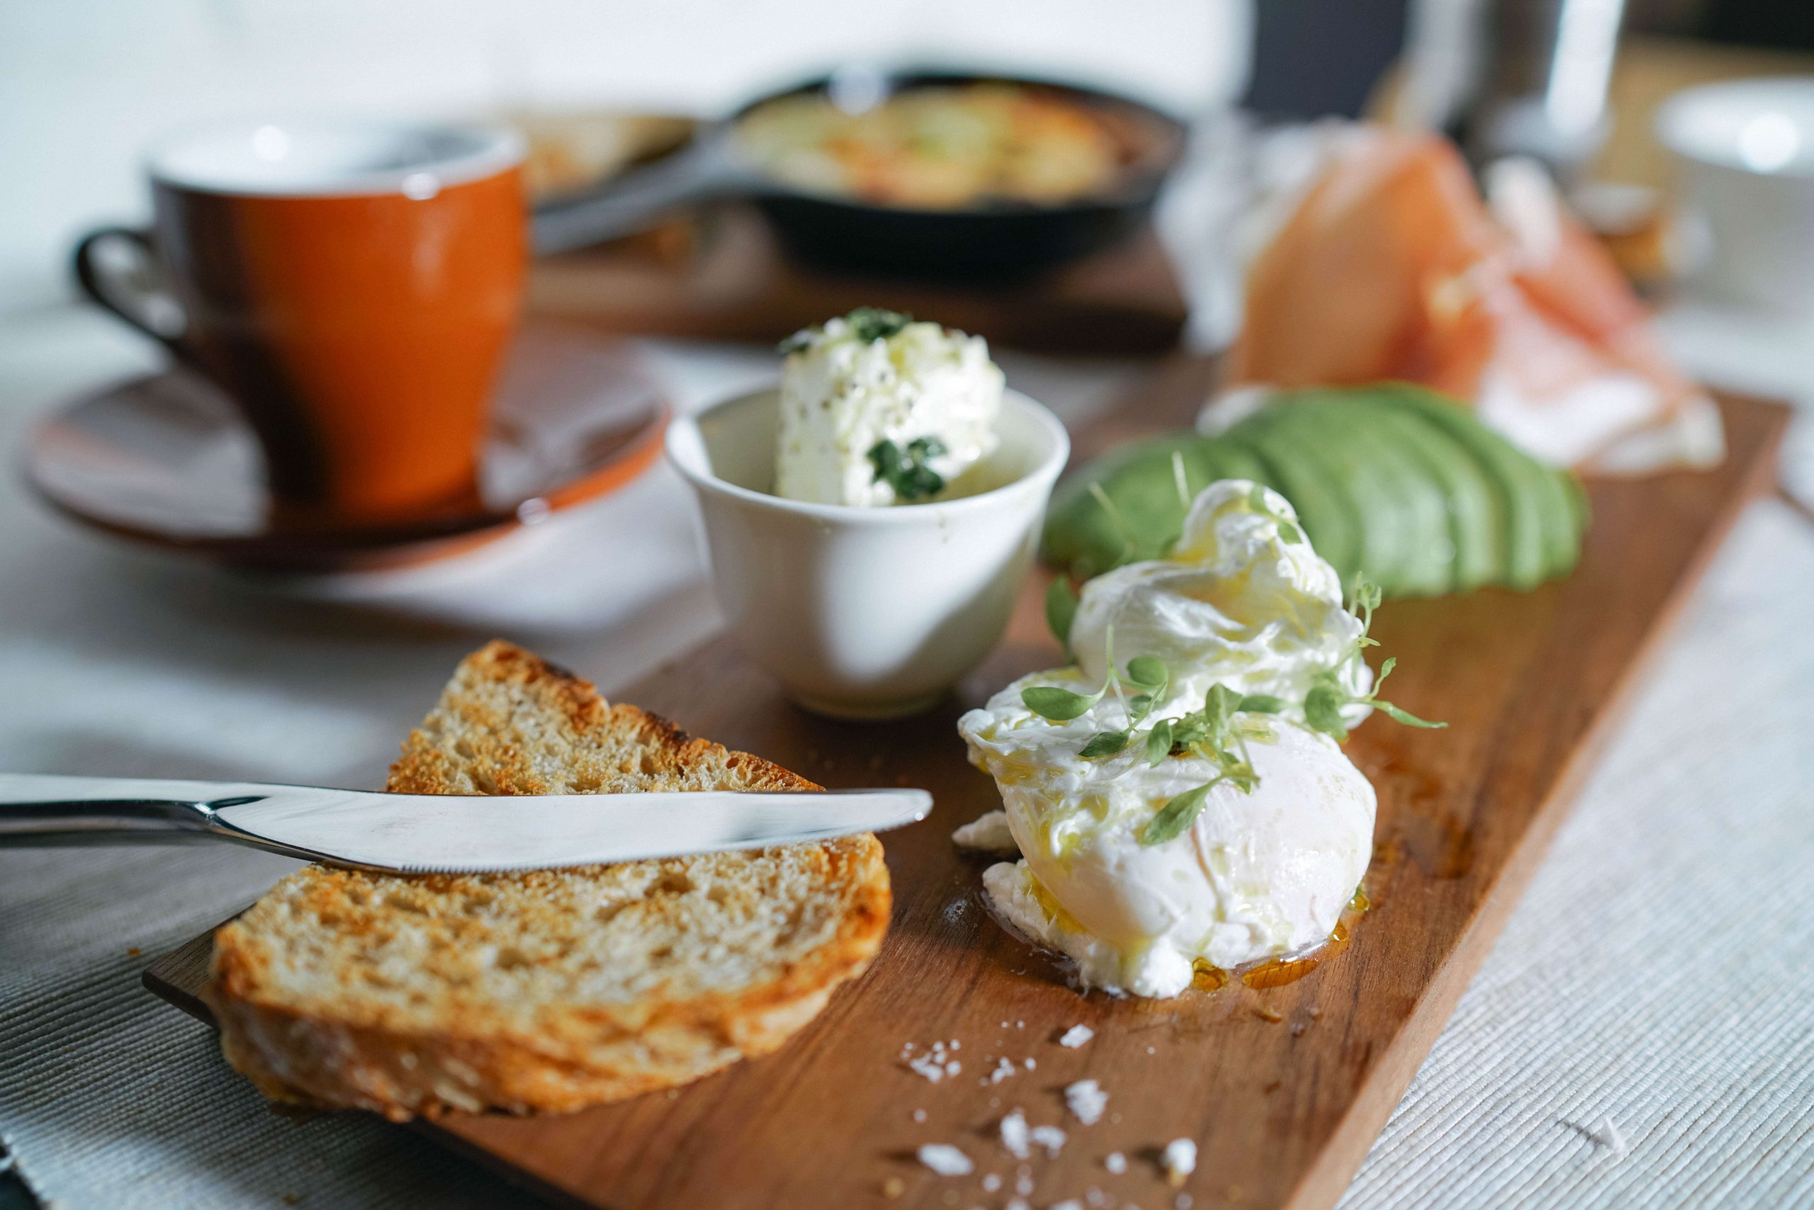
{"type": "Polygon", "coordinates": [[[1685,89],[1656,112],[1678,198],[1705,239],[1691,287],[1814,310],[1814,76],[1685,89]]]}

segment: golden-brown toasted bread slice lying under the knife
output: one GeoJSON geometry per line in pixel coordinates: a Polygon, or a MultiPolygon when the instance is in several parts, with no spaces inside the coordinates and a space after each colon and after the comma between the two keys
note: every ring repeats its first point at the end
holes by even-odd
{"type": "MultiPolygon", "coordinates": [[[[493,642],[386,789],[818,787],[493,642]]],[[[517,874],[310,865],[216,932],[203,996],[227,1059],[274,1099],[399,1121],[564,1112],[775,1050],[863,971],[887,922],[869,834],[517,874]]]]}

